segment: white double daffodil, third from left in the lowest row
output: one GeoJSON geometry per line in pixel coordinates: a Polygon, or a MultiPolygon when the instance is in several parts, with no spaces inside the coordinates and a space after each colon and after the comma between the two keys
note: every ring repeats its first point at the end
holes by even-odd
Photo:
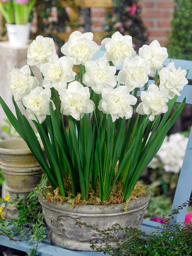
{"type": "Polygon", "coordinates": [[[102,99],[99,101],[98,109],[104,114],[110,114],[112,121],[116,119],[131,118],[133,108],[130,105],[135,105],[137,98],[129,94],[126,86],[120,85],[119,87],[104,88],[102,90],[102,99]]]}

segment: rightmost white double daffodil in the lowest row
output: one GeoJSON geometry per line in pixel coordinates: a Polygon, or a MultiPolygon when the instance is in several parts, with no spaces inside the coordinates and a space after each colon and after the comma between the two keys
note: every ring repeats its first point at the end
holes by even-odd
{"type": "Polygon", "coordinates": [[[136,112],[141,115],[150,115],[149,120],[153,121],[156,115],[168,111],[167,92],[162,92],[155,84],[150,84],[147,91],[141,92],[141,100],[137,106],[136,112]]]}

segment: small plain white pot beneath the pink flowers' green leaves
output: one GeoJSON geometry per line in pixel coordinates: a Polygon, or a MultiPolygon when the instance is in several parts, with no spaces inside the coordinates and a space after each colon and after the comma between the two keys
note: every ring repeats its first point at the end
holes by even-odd
{"type": "Polygon", "coordinates": [[[30,37],[30,23],[25,25],[5,24],[9,44],[11,46],[22,46],[28,44],[30,37]]]}

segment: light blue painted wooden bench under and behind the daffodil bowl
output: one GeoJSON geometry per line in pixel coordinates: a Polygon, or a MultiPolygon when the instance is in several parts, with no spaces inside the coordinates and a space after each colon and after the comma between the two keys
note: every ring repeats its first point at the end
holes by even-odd
{"type": "MultiPolygon", "coordinates": [[[[100,48],[100,51],[98,54],[94,57],[95,59],[98,59],[100,57],[103,57],[103,51],[100,48]]],[[[181,67],[181,69],[189,69],[189,75],[188,79],[192,79],[192,61],[185,61],[185,60],[176,60],[172,59],[172,61],[175,64],[176,69],[181,67]]],[[[170,59],[167,59],[164,64],[165,66],[168,65],[170,62],[170,59]]],[[[122,69],[122,67],[120,67],[122,69]]],[[[149,81],[152,83],[153,81],[149,81]]],[[[190,81],[192,84],[192,81],[190,81]]],[[[139,95],[139,92],[138,92],[139,95]]],[[[181,102],[184,97],[186,97],[186,103],[192,104],[192,85],[185,85],[183,91],[181,92],[181,96],[177,98],[177,102],[181,102]]],[[[187,150],[185,153],[183,166],[180,171],[179,180],[177,183],[177,188],[172,204],[172,209],[176,209],[179,205],[186,202],[190,199],[190,195],[192,192],[192,130],[190,131],[189,135],[189,141],[187,145],[187,150]]],[[[182,223],[185,220],[187,207],[184,207],[180,214],[177,214],[174,218],[175,221],[178,223],[182,223]]],[[[141,230],[145,231],[146,233],[151,233],[155,231],[155,229],[159,226],[159,223],[143,220],[143,223],[141,225],[141,230]]],[[[24,252],[30,252],[30,248],[33,248],[36,244],[30,243],[27,245],[28,240],[24,239],[22,241],[10,241],[9,238],[5,236],[0,236],[0,252],[5,249],[5,247],[11,247],[14,249],[18,249],[24,252]]],[[[35,252],[36,255],[40,256],[96,256],[96,255],[104,255],[103,253],[98,252],[80,252],[80,251],[73,251],[68,250],[65,248],[61,248],[59,246],[55,246],[50,243],[50,241],[45,238],[41,241],[41,243],[38,245],[38,248],[35,252]]]]}

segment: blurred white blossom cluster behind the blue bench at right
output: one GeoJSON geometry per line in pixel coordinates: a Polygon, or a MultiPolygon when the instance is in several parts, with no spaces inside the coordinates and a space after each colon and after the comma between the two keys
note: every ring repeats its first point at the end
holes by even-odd
{"type": "MultiPolygon", "coordinates": [[[[157,152],[157,156],[163,163],[166,172],[179,173],[183,164],[188,139],[189,138],[180,133],[171,134],[169,137],[166,136],[162,146],[157,152]]],[[[149,167],[155,169],[156,163],[157,158],[156,162],[154,159],[152,160],[149,167]]]]}

